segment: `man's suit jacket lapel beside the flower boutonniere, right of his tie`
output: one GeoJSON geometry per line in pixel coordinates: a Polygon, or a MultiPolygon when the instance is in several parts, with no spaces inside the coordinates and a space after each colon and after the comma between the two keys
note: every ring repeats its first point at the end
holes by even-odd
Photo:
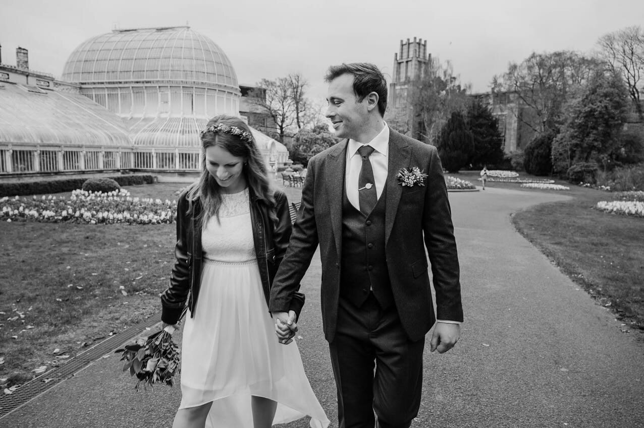
{"type": "Polygon", "coordinates": [[[384,215],[384,244],[389,241],[392,233],[393,221],[398,212],[398,205],[403,194],[403,186],[399,185],[396,174],[401,168],[408,168],[412,160],[411,147],[404,142],[400,134],[390,129],[389,134],[389,161],[387,165],[387,194],[386,211],[384,215]]]}

